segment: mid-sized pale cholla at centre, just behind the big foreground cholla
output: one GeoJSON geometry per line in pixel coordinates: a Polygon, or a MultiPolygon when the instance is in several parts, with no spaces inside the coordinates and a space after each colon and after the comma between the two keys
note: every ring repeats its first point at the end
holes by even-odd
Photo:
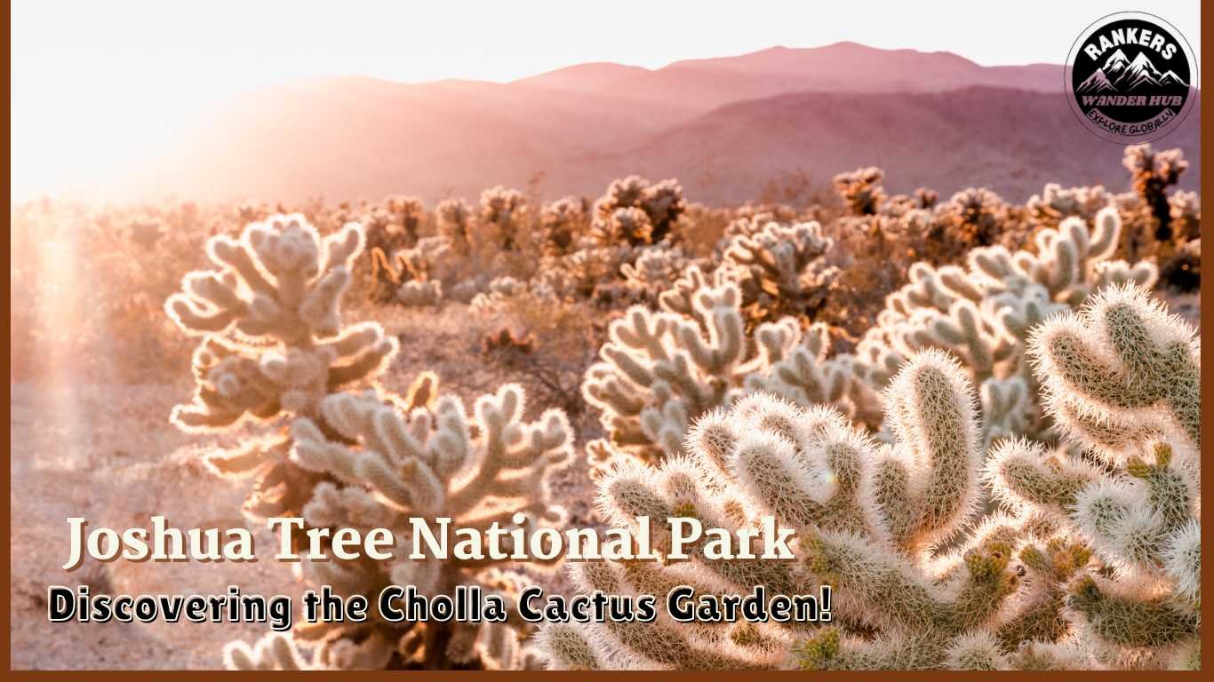
{"type": "Polygon", "coordinates": [[[787,385],[785,394],[841,399],[841,373],[821,366],[821,334],[805,340],[804,352],[793,319],[765,323],[748,337],[737,285],[713,285],[694,266],[688,275],[697,285],[663,294],[662,312],[634,306],[613,322],[601,362],[586,371],[583,396],[602,411],[615,447],[643,459],[682,451],[691,422],[728,404],[751,375],[787,385]]]}

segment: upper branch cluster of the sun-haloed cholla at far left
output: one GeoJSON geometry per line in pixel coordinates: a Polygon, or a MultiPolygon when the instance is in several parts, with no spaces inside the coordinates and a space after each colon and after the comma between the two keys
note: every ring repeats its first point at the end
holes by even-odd
{"type": "Polygon", "coordinates": [[[202,337],[194,400],[174,409],[187,431],[228,428],[245,419],[314,414],[329,393],[374,377],[396,342],[374,323],[344,325],[339,309],[363,246],[347,225],[324,239],[300,215],[248,226],[240,240],[212,237],[217,271],[193,272],[165,311],[202,337]]]}

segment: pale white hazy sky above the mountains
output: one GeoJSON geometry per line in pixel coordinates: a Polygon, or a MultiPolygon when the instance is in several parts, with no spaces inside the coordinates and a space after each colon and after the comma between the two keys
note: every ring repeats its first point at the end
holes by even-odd
{"type": "MultiPolygon", "coordinates": [[[[1199,49],[1199,4],[1136,1],[1199,49]]],[[[1061,63],[1123,1],[12,2],[13,191],[106,172],[200,107],[330,74],[512,80],[594,61],[658,68],[853,40],[981,64],[1061,63]]],[[[1199,57],[1199,56],[1198,56],[1199,57]]]]}

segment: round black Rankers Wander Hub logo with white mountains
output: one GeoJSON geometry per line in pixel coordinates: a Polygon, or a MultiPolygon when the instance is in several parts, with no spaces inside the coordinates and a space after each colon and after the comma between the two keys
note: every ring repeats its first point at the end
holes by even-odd
{"type": "Polygon", "coordinates": [[[1093,132],[1136,144],[1172,132],[1196,100],[1197,61],[1168,22],[1118,12],[1089,25],[1071,46],[1066,91],[1093,132]]]}

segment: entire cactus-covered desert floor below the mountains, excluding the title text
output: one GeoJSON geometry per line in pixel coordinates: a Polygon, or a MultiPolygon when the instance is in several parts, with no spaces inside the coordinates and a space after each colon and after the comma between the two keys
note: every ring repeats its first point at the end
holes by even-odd
{"type": "MultiPolygon", "coordinates": [[[[11,209],[13,667],[1199,666],[1199,197],[676,180],[11,209]],[[86,563],[97,525],[798,530],[793,562],[86,563]],[[835,590],[830,624],[46,621],[46,586],[835,590]]],[[[402,542],[403,539],[402,533],[402,542]]],[[[660,544],[660,540],[659,540],[660,544]]],[[[660,549],[660,547],[659,547],[660,549]]]]}

